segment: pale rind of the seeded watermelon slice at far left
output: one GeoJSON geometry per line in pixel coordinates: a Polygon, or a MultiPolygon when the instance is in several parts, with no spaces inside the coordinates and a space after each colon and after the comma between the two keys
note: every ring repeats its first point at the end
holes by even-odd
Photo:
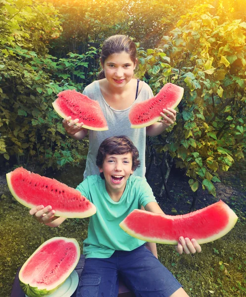
{"type": "MultiPolygon", "coordinates": [[[[20,198],[20,197],[18,197],[16,195],[16,193],[15,193],[13,187],[12,187],[12,183],[11,183],[11,175],[12,175],[13,172],[14,171],[11,171],[11,172],[6,174],[7,185],[8,185],[9,191],[11,192],[12,196],[19,203],[21,203],[22,205],[24,205],[24,206],[26,206],[28,208],[37,207],[38,205],[27,203],[24,199],[22,199],[22,198],[20,198]]],[[[52,179],[50,179],[50,180],[52,181],[52,179]]],[[[48,205],[44,205],[44,206],[46,207],[48,205]]],[[[65,211],[59,211],[59,210],[55,209],[55,216],[64,217],[64,218],[87,218],[87,217],[90,217],[90,216],[94,215],[97,212],[97,208],[92,202],[90,202],[90,205],[91,205],[91,208],[88,209],[87,211],[84,211],[84,212],[65,212],[65,211]]]]}

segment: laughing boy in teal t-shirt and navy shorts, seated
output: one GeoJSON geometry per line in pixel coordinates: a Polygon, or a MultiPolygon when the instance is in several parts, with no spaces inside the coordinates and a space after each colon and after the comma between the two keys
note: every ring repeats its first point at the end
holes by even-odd
{"type": "MultiPolygon", "coordinates": [[[[163,213],[146,181],[132,176],[139,154],[126,136],[105,139],[97,155],[100,176],[88,176],[78,187],[97,207],[84,241],[85,266],[76,297],[117,297],[118,275],[136,297],[187,297],[180,283],[145,247],[125,233],[119,223],[134,209],[163,213]]],[[[39,205],[30,214],[50,227],[65,218],[55,217],[51,206],[39,205]]],[[[195,240],[180,238],[179,253],[200,252],[195,240]]]]}

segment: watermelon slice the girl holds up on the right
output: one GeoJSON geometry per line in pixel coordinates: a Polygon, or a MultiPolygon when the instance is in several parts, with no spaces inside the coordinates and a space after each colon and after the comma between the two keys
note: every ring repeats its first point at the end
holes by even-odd
{"type": "Polygon", "coordinates": [[[163,108],[175,108],[183,95],[184,88],[167,83],[156,96],[134,103],[129,112],[131,127],[143,128],[157,122],[163,108]]]}

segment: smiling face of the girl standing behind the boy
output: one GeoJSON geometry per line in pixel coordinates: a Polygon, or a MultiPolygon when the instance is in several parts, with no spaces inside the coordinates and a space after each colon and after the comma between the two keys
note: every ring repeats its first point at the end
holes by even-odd
{"type": "Polygon", "coordinates": [[[134,63],[125,51],[108,56],[103,65],[108,83],[117,88],[124,87],[132,79],[136,63],[137,59],[134,63]]]}

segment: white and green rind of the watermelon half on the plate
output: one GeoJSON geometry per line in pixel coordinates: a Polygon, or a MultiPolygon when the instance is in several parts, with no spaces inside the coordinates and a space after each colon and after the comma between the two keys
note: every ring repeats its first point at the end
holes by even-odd
{"type": "Polygon", "coordinates": [[[75,267],[77,266],[78,262],[80,259],[80,246],[79,243],[77,242],[77,240],[75,238],[66,238],[66,237],[53,237],[49,240],[47,240],[46,242],[44,242],[40,247],[38,247],[35,252],[26,260],[26,262],[23,264],[23,266],[21,267],[20,271],[19,271],[19,282],[20,282],[20,286],[22,288],[22,290],[24,291],[24,293],[28,296],[28,297],[44,297],[44,296],[49,296],[50,294],[54,293],[65,281],[66,279],[69,277],[69,275],[73,272],[73,270],[75,269],[75,267]],[[21,273],[24,270],[24,268],[28,265],[28,262],[35,256],[35,254],[42,249],[42,247],[44,247],[46,244],[52,242],[52,241],[56,241],[56,240],[64,240],[67,241],[69,243],[73,243],[76,247],[77,250],[77,259],[76,261],[74,261],[73,265],[69,268],[69,270],[67,271],[66,274],[64,274],[60,280],[58,280],[55,284],[53,284],[52,287],[48,287],[46,289],[39,289],[38,287],[34,287],[31,286],[29,284],[26,284],[21,273]]]}

